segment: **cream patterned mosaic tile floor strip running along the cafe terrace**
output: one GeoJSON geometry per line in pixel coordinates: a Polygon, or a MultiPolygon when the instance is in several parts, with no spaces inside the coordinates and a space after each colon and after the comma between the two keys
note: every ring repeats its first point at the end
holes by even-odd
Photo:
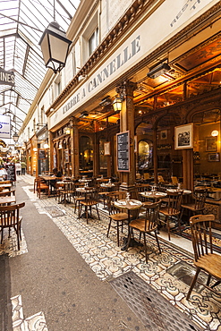
{"type": "Polygon", "coordinates": [[[105,213],[100,213],[100,221],[94,214],[87,225],[85,219],[77,219],[72,205],[57,205],[55,198],[37,199],[32,188],[32,185],[23,187],[38,212],[47,213],[52,218],[100,280],[109,281],[132,270],[204,330],[221,330],[221,287],[217,286],[219,295],[203,288],[200,293],[193,291],[191,300],[186,301],[189,285],[167,272],[168,268],[181,261],[192,264],[190,255],[166,242],[160,242],[162,254],[159,255],[155,240],[149,238],[149,263],[146,264],[142,247],[128,251],[117,247],[115,229],[106,238],[108,217],[105,213]],[[48,207],[55,205],[64,212],[64,216],[53,217],[47,212],[48,207]]]}

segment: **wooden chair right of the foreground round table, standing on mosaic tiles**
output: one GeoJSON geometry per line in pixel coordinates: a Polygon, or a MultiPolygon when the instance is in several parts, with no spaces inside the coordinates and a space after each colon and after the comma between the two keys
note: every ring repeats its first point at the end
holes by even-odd
{"type": "Polygon", "coordinates": [[[129,237],[128,237],[128,242],[127,242],[127,250],[128,250],[128,247],[130,246],[130,241],[132,238],[132,231],[133,230],[139,231],[140,238],[141,238],[141,234],[143,234],[144,250],[145,250],[145,257],[146,257],[147,263],[148,263],[148,255],[147,255],[146,234],[149,234],[149,235],[151,235],[150,233],[155,234],[158,250],[159,250],[159,253],[161,254],[161,249],[160,249],[159,241],[158,241],[158,237],[157,237],[157,220],[158,220],[160,204],[161,204],[161,201],[155,202],[155,203],[149,203],[149,205],[145,205],[144,206],[145,216],[134,219],[129,224],[129,237]]]}

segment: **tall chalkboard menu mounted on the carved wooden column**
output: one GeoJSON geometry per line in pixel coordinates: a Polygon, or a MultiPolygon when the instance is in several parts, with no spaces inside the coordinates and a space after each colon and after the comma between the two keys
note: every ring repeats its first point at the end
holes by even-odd
{"type": "Polygon", "coordinates": [[[116,134],[117,171],[130,171],[129,131],[116,134]]]}

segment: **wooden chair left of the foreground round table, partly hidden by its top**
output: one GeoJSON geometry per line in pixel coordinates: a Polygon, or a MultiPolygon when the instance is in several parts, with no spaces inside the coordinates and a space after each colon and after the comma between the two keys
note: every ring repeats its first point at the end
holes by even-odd
{"type": "Polygon", "coordinates": [[[115,201],[118,199],[125,199],[126,193],[122,191],[110,192],[107,196],[107,205],[108,205],[108,213],[109,213],[109,225],[107,229],[106,236],[108,238],[110,228],[113,227],[116,229],[116,237],[117,237],[117,246],[120,246],[120,233],[119,228],[121,227],[123,233],[123,225],[128,225],[128,213],[124,211],[122,208],[115,207],[115,201]]]}

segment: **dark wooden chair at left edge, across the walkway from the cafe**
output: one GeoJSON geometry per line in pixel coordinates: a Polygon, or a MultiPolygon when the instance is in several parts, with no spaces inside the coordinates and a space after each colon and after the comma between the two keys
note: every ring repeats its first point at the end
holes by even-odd
{"type": "Polygon", "coordinates": [[[2,231],[1,243],[3,242],[4,228],[8,228],[10,237],[10,230],[13,227],[17,234],[18,250],[20,250],[22,220],[22,216],[20,216],[20,208],[24,207],[24,205],[25,202],[12,206],[0,206],[0,230],[2,231]]]}

